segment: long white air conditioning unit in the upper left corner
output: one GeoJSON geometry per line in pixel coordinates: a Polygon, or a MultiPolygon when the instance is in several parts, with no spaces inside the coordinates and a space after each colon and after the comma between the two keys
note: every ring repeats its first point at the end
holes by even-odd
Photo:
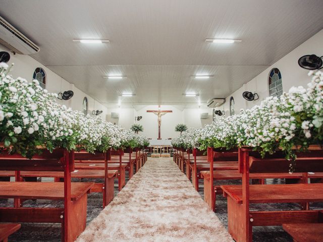
{"type": "Polygon", "coordinates": [[[39,47],[0,17],[0,43],[18,54],[34,54],[39,47]]]}

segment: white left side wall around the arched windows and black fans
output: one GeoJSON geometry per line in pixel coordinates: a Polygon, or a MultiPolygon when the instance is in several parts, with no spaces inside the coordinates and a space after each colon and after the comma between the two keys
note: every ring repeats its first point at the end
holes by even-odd
{"type": "Polygon", "coordinates": [[[102,119],[106,117],[106,107],[100,104],[99,102],[95,101],[92,97],[87,95],[86,93],[82,92],[80,89],[64,80],[62,77],[50,71],[47,67],[37,62],[34,58],[29,55],[24,54],[12,54],[11,51],[6,48],[5,46],[0,44],[0,51],[7,51],[10,53],[10,61],[9,65],[14,63],[15,65],[11,69],[10,74],[14,77],[22,77],[25,78],[27,81],[32,81],[32,76],[37,67],[42,68],[46,73],[46,89],[48,92],[52,93],[59,93],[64,92],[67,90],[72,90],[74,92],[74,96],[70,100],[59,100],[57,102],[60,104],[64,104],[67,107],[71,107],[74,110],[82,111],[83,109],[83,98],[87,97],[88,99],[88,112],[92,113],[92,110],[102,110],[103,113],[100,114],[102,119]]]}

